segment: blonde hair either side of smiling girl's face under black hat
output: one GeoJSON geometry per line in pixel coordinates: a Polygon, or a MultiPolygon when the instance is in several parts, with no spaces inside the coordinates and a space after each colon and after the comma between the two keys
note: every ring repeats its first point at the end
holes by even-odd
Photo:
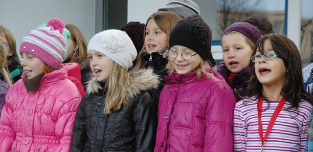
{"type": "MultiPolygon", "coordinates": [[[[198,67],[195,69],[197,71],[197,77],[201,78],[202,77],[202,73],[204,74],[204,76],[206,77],[210,77],[212,76],[212,74],[209,73],[209,71],[211,69],[208,68],[209,64],[204,62],[203,59],[201,59],[200,64],[198,65],[198,67]]],[[[166,65],[166,68],[168,70],[168,74],[170,75],[174,70],[174,65],[172,62],[168,62],[166,65]]]]}

